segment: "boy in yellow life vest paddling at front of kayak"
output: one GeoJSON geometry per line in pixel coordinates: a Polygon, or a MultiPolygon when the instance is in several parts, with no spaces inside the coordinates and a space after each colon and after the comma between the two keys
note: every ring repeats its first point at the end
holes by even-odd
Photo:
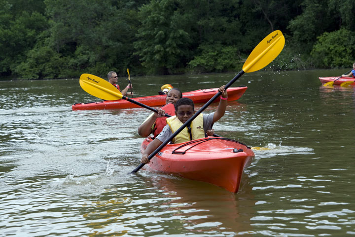
{"type": "MultiPolygon", "coordinates": [[[[176,137],[173,138],[172,143],[182,143],[205,137],[205,132],[212,127],[212,124],[218,119],[222,118],[227,108],[227,91],[224,90],[224,85],[218,88],[222,92],[218,108],[214,113],[208,115],[200,114],[190,124],[190,127],[184,128],[176,137]]],[[[148,156],[155,151],[163,142],[165,142],[178,128],[191,118],[195,111],[195,105],[189,98],[181,98],[175,104],[175,114],[167,118],[167,125],[162,132],[154,139],[142,154],[142,163],[149,163],[148,156]]]]}

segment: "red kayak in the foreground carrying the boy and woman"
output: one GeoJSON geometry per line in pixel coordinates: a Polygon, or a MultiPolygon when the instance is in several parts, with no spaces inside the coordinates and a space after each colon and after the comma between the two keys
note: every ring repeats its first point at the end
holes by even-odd
{"type": "MultiPolygon", "coordinates": [[[[142,142],[141,153],[152,141],[142,142]]],[[[147,164],[168,174],[208,182],[237,193],[243,170],[254,157],[250,147],[223,137],[207,137],[166,145],[147,164]]]]}

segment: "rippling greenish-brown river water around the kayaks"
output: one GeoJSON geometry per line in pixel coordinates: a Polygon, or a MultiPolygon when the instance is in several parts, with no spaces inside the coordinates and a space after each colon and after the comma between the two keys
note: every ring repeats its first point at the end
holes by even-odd
{"type": "MultiPolygon", "coordinates": [[[[72,111],[100,101],[78,79],[1,81],[0,236],[355,236],[355,89],[318,79],[342,73],[235,82],[248,89],[213,128],[267,148],[254,151],[237,194],[145,168],[128,174],[140,163],[146,109],[72,111]]],[[[147,96],[166,83],[190,91],[233,77],[131,80],[135,96],[147,96]]]]}

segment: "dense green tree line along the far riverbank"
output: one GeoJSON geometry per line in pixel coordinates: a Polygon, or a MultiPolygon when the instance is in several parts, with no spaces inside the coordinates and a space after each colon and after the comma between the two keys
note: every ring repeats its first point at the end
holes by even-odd
{"type": "Polygon", "coordinates": [[[0,0],[0,77],[239,71],[267,34],[268,68],[351,67],[354,0],[0,0]]]}

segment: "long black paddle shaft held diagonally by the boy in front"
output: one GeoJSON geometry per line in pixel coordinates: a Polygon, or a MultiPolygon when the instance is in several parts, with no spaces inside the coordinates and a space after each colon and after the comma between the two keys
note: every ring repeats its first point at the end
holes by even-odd
{"type": "MultiPolygon", "coordinates": [[[[229,86],[231,86],[236,80],[238,80],[242,75],[244,74],[244,71],[240,71],[233,79],[231,79],[225,86],[224,86],[224,90],[228,89],[229,86]]],[[[176,132],[174,132],[172,135],[170,135],[170,137],[163,142],[157,149],[155,149],[154,152],[152,152],[149,156],[148,159],[150,160],[151,158],[153,158],[156,154],[158,154],[158,152],[160,152],[160,150],[165,147],[176,135],[178,135],[182,129],[184,129],[188,124],[190,124],[190,122],[195,119],[197,116],[199,116],[218,96],[220,96],[222,94],[222,92],[218,92],[217,94],[215,94],[204,106],[201,107],[201,109],[199,109],[191,118],[189,118],[184,124],[182,124],[181,127],[178,128],[178,130],[176,130],[176,132]]],[[[140,170],[142,167],[144,166],[144,163],[141,163],[140,165],[137,166],[137,168],[135,168],[131,173],[137,173],[138,170],[140,170]]]]}

